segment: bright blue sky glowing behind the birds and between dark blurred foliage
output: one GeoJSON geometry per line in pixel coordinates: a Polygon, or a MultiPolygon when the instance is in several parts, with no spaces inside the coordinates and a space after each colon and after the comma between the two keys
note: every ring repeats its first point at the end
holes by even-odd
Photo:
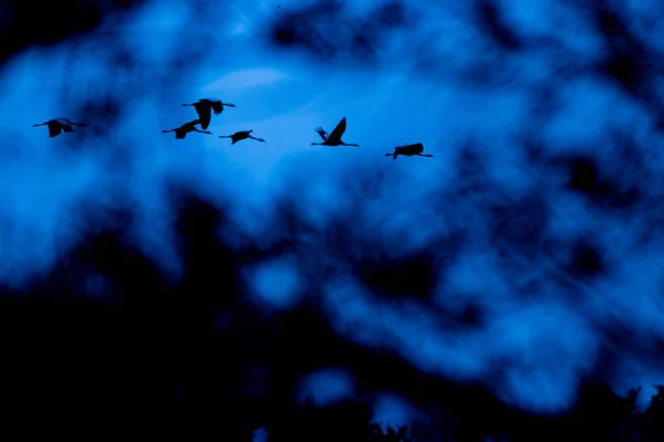
{"type": "MultiPolygon", "coordinates": [[[[362,67],[343,57],[321,64],[268,45],[263,39],[268,21],[294,1],[230,3],[229,9],[209,8],[197,14],[195,3],[148,2],[136,13],[110,20],[105,30],[84,41],[30,49],[6,65],[0,73],[4,98],[0,124],[6,134],[0,149],[0,217],[6,222],[0,233],[0,280],[20,285],[80,241],[76,206],[82,201],[100,208],[137,202],[141,221],[135,241],[177,274],[169,236],[173,218],[164,193],[168,179],[229,204],[235,229],[259,242],[272,240],[264,232],[280,196],[295,197],[301,215],[321,230],[330,217],[359,204],[361,217],[354,228],[381,241],[393,256],[455,229],[473,231],[464,253],[447,271],[449,277],[437,287],[436,299],[449,309],[477,303],[486,311],[487,324],[474,330],[446,329],[429,306],[380,299],[361,286],[352,269],[335,262],[334,277],[322,284],[323,306],[341,336],[394,349],[427,372],[458,380],[490,379],[505,401],[547,412],[573,402],[580,377],[609,344],[602,327],[626,326],[639,346],[618,361],[615,378],[610,379],[616,392],[645,385],[646,400],[650,383],[664,383],[655,375],[662,360],[653,359],[654,341],[664,337],[662,238],[655,235],[649,244],[639,240],[661,219],[652,207],[661,201],[664,183],[658,178],[642,183],[646,200],[640,211],[611,214],[561,190],[562,175],[549,169],[544,176],[516,148],[519,136],[532,129],[532,91],[549,85],[557,90],[559,110],[537,127],[547,155],[588,151],[610,172],[624,175],[606,133],[608,127],[618,127],[629,130],[647,155],[636,177],[655,175],[664,160],[660,154],[664,143],[651,127],[652,116],[591,75],[573,81],[554,77],[560,63],[546,51],[506,57],[490,86],[469,85],[466,66],[494,55],[467,24],[463,7],[422,2],[414,12],[421,20],[417,29],[391,35],[382,42],[378,61],[362,67]],[[128,71],[113,67],[105,39],[128,42],[139,65],[128,71]],[[421,45],[430,57],[428,71],[419,69],[422,60],[411,56],[421,45]],[[186,66],[177,84],[166,84],[160,66],[189,46],[203,52],[196,53],[197,61],[186,66]],[[121,95],[128,101],[111,131],[104,129],[105,122],[72,114],[74,103],[103,97],[105,91],[124,91],[121,95]],[[173,134],[160,134],[195,118],[191,108],[179,104],[206,96],[238,106],[212,119],[214,136],[191,134],[176,141],[173,134]],[[54,139],[48,138],[45,128],[31,127],[59,116],[92,127],[54,139]],[[318,141],[315,126],[331,131],[344,116],[344,139],[361,148],[310,145],[318,141]],[[231,146],[217,137],[246,129],[268,143],[231,146]],[[455,193],[459,186],[455,158],[467,141],[474,143],[488,173],[484,190],[461,198],[455,193]],[[435,158],[383,157],[394,146],[409,143],[423,143],[435,158]],[[110,148],[128,151],[127,171],[120,175],[108,167],[110,148]],[[344,190],[361,186],[360,177],[378,172],[385,173],[386,185],[371,199],[356,201],[344,190]],[[592,238],[612,261],[610,276],[592,283],[568,281],[563,287],[551,277],[563,274],[562,251],[537,262],[500,255],[487,236],[485,204],[532,192],[551,209],[546,220],[550,235],[561,243],[573,235],[592,238]],[[540,283],[537,298],[519,296],[529,278],[540,283]],[[572,303],[566,291],[580,297],[572,303]],[[355,322],[361,326],[353,326],[355,322]],[[510,360],[510,369],[489,376],[498,359],[510,360]]],[[[346,13],[361,14],[380,3],[350,2],[346,13]]],[[[506,9],[523,35],[553,34],[574,61],[595,60],[602,52],[582,14],[535,3],[510,2],[506,9]]],[[[324,239],[312,238],[309,245],[324,249],[324,239]]],[[[247,269],[246,277],[253,288],[252,302],[266,312],[290,308],[305,296],[307,275],[293,256],[247,269]]],[[[335,368],[312,373],[303,388],[312,382],[334,390],[321,392],[332,398],[355,388],[352,373],[335,368]]],[[[394,415],[400,408],[402,415],[416,414],[400,399],[376,396],[377,420],[387,415],[398,420],[394,415]]]]}

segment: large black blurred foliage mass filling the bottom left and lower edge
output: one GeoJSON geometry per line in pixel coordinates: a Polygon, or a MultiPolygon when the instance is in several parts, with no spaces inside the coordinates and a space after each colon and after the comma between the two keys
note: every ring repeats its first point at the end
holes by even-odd
{"type": "MultiPolygon", "coordinates": [[[[237,275],[240,265],[271,251],[230,248],[217,235],[229,223],[222,209],[181,188],[174,187],[173,194],[185,257],[177,282],[131,244],[132,215],[118,212],[103,217],[104,224],[92,223],[96,231],[49,275],[0,298],[2,335],[11,337],[3,344],[0,389],[12,414],[40,420],[53,433],[59,428],[81,434],[200,432],[241,441],[264,427],[270,441],[307,434],[322,441],[349,434],[398,441],[391,432],[376,439],[362,401],[323,408],[293,402],[304,373],[341,365],[370,390],[394,391],[423,409],[443,407],[449,441],[481,441],[489,434],[564,440],[579,433],[615,441],[639,433],[642,441],[655,441],[652,434],[663,431],[660,396],[636,413],[634,398],[588,383],[569,413],[530,417],[485,388],[426,376],[396,355],[346,343],[315,306],[264,317],[242,302],[246,287],[237,275]],[[90,288],[93,281],[96,291],[90,288]]],[[[578,260],[593,260],[584,255],[590,252],[577,253],[578,260]]],[[[400,265],[407,271],[412,263],[390,265],[398,277],[400,265]]],[[[444,432],[436,424],[413,431],[433,428],[435,434],[444,432]]]]}

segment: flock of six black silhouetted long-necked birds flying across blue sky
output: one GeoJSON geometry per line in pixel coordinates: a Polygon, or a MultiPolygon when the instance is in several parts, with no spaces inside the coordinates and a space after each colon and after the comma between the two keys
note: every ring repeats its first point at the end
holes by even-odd
{"type": "MultiPolygon", "coordinates": [[[[210,122],[212,119],[212,112],[215,113],[215,115],[221,115],[225,106],[226,107],[237,107],[232,103],[224,103],[218,98],[200,98],[196,103],[183,104],[183,106],[193,106],[194,109],[196,110],[196,114],[198,114],[198,118],[196,118],[191,122],[185,123],[180,127],[176,127],[175,129],[162,130],[162,133],[166,134],[166,133],[174,131],[176,139],[184,139],[187,136],[187,134],[189,134],[191,131],[212,135],[211,131],[207,130],[207,128],[210,125],[210,122]],[[196,127],[197,125],[200,126],[200,129],[198,129],[196,127]]],[[[74,123],[64,117],[54,118],[54,119],[50,119],[44,123],[35,124],[32,127],[38,127],[38,126],[48,126],[49,127],[49,137],[51,137],[51,138],[56,137],[58,135],[60,135],[63,131],[64,133],[74,131],[74,126],[86,127],[86,125],[84,125],[84,124],[74,123]]],[[[360,147],[360,145],[356,143],[345,143],[341,139],[341,137],[345,133],[345,129],[346,129],[345,117],[343,117],[341,119],[341,122],[339,122],[336,127],[334,127],[334,129],[331,133],[326,133],[321,126],[319,126],[314,129],[314,131],[320,135],[320,137],[323,139],[323,143],[312,143],[312,145],[317,145],[317,146],[357,146],[357,147],[360,147]]],[[[236,143],[241,141],[242,139],[247,139],[247,138],[255,139],[257,141],[261,141],[261,143],[266,143],[264,139],[252,136],[251,135],[252,131],[253,130],[239,130],[232,135],[220,135],[219,138],[230,138],[232,140],[231,145],[235,145],[236,143]]],[[[412,145],[396,146],[394,148],[394,151],[385,154],[385,156],[392,157],[394,159],[396,159],[396,157],[398,157],[400,155],[403,155],[405,157],[414,157],[414,156],[429,157],[429,158],[433,157],[433,155],[423,154],[423,151],[424,151],[424,145],[422,143],[415,143],[412,145]]]]}

